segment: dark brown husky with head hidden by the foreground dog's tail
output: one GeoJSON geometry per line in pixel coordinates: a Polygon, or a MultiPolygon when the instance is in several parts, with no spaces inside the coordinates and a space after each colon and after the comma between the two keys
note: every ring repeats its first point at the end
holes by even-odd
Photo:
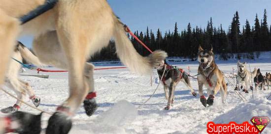
{"type": "Polygon", "coordinates": [[[173,66],[166,63],[166,71],[164,77],[162,78],[164,70],[165,62],[162,61],[161,65],[157,68],[157,73],[159,75],[159,79],[162,79],[166,99],[168,99],[168,105],[165,107],[166,110],[169,110],[174,102],[174,91],[179,81],[182,81],[190,89],[193,96],[197,96],[197,93],[191,87],[190,79],[182,69],[174,68],[173,66]]]}

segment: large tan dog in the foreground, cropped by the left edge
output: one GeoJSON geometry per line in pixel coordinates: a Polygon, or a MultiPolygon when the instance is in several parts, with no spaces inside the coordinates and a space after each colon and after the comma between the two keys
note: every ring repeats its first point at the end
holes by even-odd
{"type": "MultiPolygon", "coordinates": [[[[69,71],[68,99],[49,118],[46,128],[46,134],[68,134],[72,126],[71,117],[80,104],[95,96],[92,93],[94,88],[89,88],[94,87],[93,68],[91,69],[93,65],[87,66],[86,60],[107,46],[112,37],[120,60],[137,74],[149,74],[153,67],[159,66],[167,54],[163,51],[155,51],[147,57],[138,54],[126,35],[124,25],[114,15],[106,0],[58,0],[52,9],[20,25],[19,17],[46,2],[47,0],[0,0],[0,84],[3,83],[16,38],[25,33],[34,35],[36,50],[43,51],[44,54],[54,54],[43,60],[50,62],[50,58],[55,57],[52,63],[59,66],[66,65],[64,68],[69,71]],[[51,39],[50,34],[56,34],[56,39],[51,39]],[[38,41],[42,38],[47,40],[39,46],[38,41]],[[58,47],[58,43],[63,53],[53,49],[54,46],[58,47]],[[60,55],[64,56],[60,57],[60,55]]],[[[95,109],[92,106],[85,107],[85,103],[84,108],[95,109]]],[[[19,127],[14,129],[16,133],[29,134],[27,132],[31,130],[31,134],[40,133],[40,127],[23,123],[28,120],[39,124],[40,117],[38,120],[34,118],[38,115],[20,112],[21,118],[13,120],[14,116],[16,117],[16,112],[6,117],[2,125],[5,126],[5,130],[0,132],[7,133],[10,131],[9,125],[16,122],[19,124],[19,127]]]]}

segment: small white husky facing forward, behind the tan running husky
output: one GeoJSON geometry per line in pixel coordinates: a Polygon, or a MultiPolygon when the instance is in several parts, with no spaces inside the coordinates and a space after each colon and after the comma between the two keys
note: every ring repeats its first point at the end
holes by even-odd
{"type": "Polygon", "coordinates": [[[241,87],[243,88],[243,91],[245,93],[248,93],[248,87],[250,85],[250,89],[252,90],[252,83],[251,83],[251,75],[252,78],[255,77],[256,73],[257,73],[257,69],[255,68],[254,71],[252,73],[250,73],[247,68],[246,68],[246,62],[237,62],[237,77],[236,77],[236,87],[235,90],[239,90],[239,85],[241,85],[241,87]]]}

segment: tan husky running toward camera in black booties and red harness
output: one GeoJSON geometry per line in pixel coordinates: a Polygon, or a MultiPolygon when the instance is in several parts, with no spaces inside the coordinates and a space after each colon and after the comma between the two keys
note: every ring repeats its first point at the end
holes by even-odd
{"type": "Polygon", "coordinates": [[[204,107],[213,105],[214,96],[220,90],[222,103],[225,103],[225,98],[227,94],[227,85],[225,83],[222,72],[218,69],[215,61],[213,49],[203,50],[199,47],[198,61],[200,63],[198,69],[198,84],[199,84],[199,94],[201,95],[201,102],[204,107]],[[209,96],[206,100],[203,95],[203,85],[207,88],[207,95],[209,96]]]}

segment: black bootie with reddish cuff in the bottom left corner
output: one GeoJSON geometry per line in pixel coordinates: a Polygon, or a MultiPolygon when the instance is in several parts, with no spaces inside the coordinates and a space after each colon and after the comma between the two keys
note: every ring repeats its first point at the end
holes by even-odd
{"type": "Polygon", "coordinates": [[[17,111],[6,117],[9,122],[6,132],[18,134],[40,134],[41,132],[41,114],[34,115],[27,112],[17,111]],[[11,124],[16,124],[13,126],[11,124]]]}

